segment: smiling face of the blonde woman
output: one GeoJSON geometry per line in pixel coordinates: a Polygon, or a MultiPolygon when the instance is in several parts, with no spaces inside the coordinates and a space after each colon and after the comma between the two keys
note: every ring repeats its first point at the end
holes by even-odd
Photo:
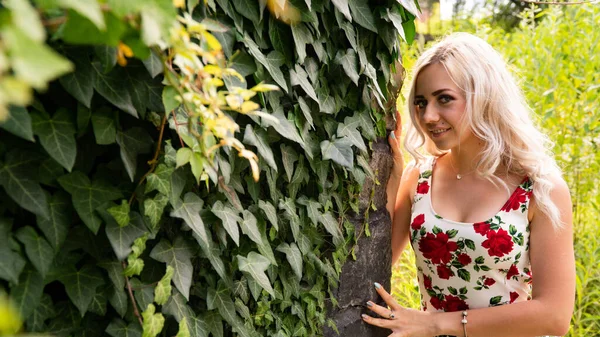
{"type": "Polygon", "coordinates": [[[417,76],[415,111],[423,133],[440,150],[449,150],[473,137],[463,122],[466,100],[441,63],[426,66],[417,76]]]}

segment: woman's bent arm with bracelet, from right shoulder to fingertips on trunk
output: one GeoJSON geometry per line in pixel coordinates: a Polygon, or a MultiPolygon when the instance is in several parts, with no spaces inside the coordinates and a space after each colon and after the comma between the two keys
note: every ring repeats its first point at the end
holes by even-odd
{"type": "MultiPolygon", "coordinates": [[[[533,294],[529,301],[492,308],[468,310],[469,337],[563,336],[569,330],[575,300],[575,257],[573,251],[572,204],[568,187],[557,178],[551,198],[557,205],[563,227],[555,230],[548,217],[536,207],[531,221],[530,261],[533,294]]],[[[461,312],[428,313],[400,307],[380,288],[377,290],[394,311],[393,319],[365,316],[373,325],[391,329],[391,336],[464,336],[461,312]]],[[[370,308],[389,317],[390,310],[370,308]]]]}

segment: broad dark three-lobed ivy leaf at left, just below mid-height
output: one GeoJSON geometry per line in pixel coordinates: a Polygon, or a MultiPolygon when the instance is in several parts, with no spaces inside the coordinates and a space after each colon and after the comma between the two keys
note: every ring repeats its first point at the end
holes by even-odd
{"type": "Polygon", "coordinates": [[[77,214],[94,234],[102,224],[96,209],[107,201],[122,197],[118,189],[101,180],[90,182],[88,177],[79,171],[58,178],[58,182],[71,193],[77,214]]]}

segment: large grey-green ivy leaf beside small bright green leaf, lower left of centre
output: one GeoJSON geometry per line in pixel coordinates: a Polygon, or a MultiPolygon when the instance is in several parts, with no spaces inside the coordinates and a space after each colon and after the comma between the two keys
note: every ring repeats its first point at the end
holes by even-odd
{"type": "Polygon", "coordinates": [[[192,286],[192,255],[192,249],[181,236],[173,244],[165,239],[161,240],[150,252],[151,258],[173,268],[173,283],[186,299],[189,299],[192,286]]]}

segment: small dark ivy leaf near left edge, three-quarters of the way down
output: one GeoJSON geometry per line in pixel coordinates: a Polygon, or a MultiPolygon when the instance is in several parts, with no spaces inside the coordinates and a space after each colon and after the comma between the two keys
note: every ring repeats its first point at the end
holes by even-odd
{"type": "Polygon", "coordinates": [[[54,251],[50,244],[31,226],[21,227],[15,236],[25,245],[27,257],[35,269],[42,275],[42,278],[46,277],[54,259],[54,251]]]}

